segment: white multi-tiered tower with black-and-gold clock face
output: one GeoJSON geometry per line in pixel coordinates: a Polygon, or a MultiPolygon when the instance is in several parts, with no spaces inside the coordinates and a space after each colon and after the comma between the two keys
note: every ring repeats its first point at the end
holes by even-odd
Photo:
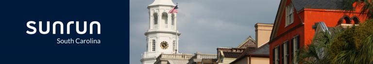
{"type": "Polygon", "coordinates": [[[154,0],[148,5],[149,29],[145,32],[146,51],[142,64],[154,64],[161,53],[178,53],[177,13],[169,13],[175,6],[172,0],[154,0]]]}

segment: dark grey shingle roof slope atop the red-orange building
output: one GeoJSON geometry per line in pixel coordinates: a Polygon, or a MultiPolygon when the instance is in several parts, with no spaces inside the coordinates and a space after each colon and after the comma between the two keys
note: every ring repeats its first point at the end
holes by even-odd
{"type": "Polygon", "coordinates": [[[344,8],[344,0],[291,0],[297,12],[304,8],[313,9],[335,9],[342,10],[344,8]]]}

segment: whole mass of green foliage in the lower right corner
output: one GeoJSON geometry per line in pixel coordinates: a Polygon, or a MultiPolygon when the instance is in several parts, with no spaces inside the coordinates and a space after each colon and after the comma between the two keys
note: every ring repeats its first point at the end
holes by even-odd
{"type": "Polygon", "coordinates": [[[373,64],[373,20],[315,35],[310,45],[298,51],[304,64],[373,64]]]}

